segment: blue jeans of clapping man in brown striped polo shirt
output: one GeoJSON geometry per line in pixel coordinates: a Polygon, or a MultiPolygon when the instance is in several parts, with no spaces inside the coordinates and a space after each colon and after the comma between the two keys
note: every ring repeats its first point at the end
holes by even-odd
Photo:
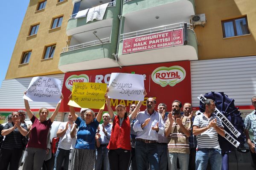
{"type": "Polygon", "coordinates": [[[189,154],[188,153],[169,153],[171,160],[171,170],[177,170],[177,158],[179,159],[180,170],[189,169],[189,154]]]}

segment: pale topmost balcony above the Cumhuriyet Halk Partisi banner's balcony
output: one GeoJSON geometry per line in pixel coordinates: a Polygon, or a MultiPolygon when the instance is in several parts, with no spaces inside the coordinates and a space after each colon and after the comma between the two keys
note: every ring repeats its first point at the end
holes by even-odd
{"type": "MultiPolygon", "coordinates": [[[[122,16],[129,20],[160,16],[165,20],[188,22],[186,18],[195,14],[194,0],[124,0],[122,16]],[[144,15],[147,16],[144,16],[144,15]]],[[[175,23],[175,22],[171,22],[175,23]]]]}

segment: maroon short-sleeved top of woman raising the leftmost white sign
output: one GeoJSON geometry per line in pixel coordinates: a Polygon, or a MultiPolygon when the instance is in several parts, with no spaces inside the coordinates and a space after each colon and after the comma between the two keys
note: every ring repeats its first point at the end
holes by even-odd
{"type": "Polygon", "coordinates": [[[47,150],[48,132],[52,125],[51,119],[40,122],[37,117],[33,116],[31,119],[32,129],[29,136],[27,147],[35,147],[47,150]]]}

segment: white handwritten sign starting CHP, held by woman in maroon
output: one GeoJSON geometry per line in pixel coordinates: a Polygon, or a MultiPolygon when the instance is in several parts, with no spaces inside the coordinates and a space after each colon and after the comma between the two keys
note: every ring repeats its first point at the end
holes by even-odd
{"type": "Polygon", "coordinates": [[[52,77],[33,77],[23,99],[34,102],[60,102],[61,80],[52,77]]]}

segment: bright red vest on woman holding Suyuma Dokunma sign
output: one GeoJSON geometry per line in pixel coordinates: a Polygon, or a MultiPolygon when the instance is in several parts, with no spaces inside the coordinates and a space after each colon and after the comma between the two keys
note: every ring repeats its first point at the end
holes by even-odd
{"type": "Polygon", "coordinates": [[[118,149],[122,148],[125,150],[131,150],[131,139],[130,139],[130,119],[127,116],[123,122],[122,126],[119,126],[119,117],[115,116],[113,121],[112,131],[110,141],[108,143],[108,149],[118,149]]]}

